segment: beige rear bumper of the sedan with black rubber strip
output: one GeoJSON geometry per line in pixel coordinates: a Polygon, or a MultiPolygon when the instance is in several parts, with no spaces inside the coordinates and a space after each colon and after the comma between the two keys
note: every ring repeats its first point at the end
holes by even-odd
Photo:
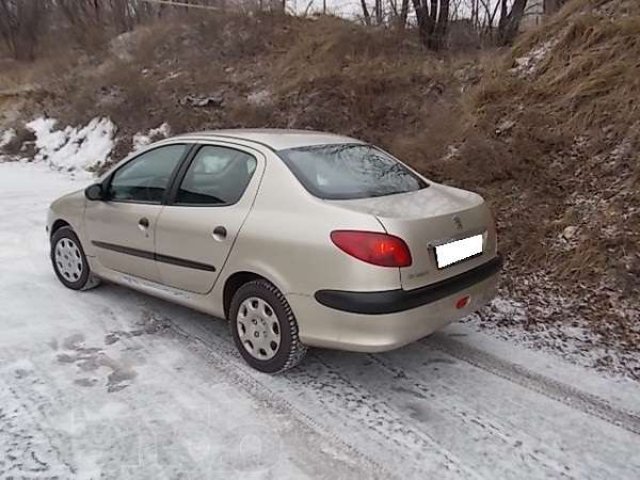
{"type": "Polygon", "coordinates": [[[309,295],[287,295],[287,300],[306,345],[360,352],[392,350],[486,305],[496,294],[501,264],[496,258],[431,288],[367,292],[355,297],[350,295],[354,292],[321,295],[325,304],[309,295]],[[456,302],[467,295],[469,303],[457,308],[456,302]]]}

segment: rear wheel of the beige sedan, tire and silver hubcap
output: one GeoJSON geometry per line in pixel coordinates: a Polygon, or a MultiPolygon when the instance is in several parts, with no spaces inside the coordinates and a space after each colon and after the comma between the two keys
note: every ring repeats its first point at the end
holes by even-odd
{"type": "Polygon", "coordinates": [[[236,291],[229,309],[229,328],[242,358],[264,373],[289,370],[307,353],[289,303],[266,280],[247,282],[236,291]]]}

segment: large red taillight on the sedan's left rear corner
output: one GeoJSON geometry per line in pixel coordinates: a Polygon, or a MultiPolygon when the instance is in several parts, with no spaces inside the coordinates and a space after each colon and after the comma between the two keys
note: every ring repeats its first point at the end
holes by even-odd
{"type": "Polygon", "coordinates": [[[331,241],[343,252],[380,267],[411,265],[409,247],[401,238],[386,233],[334,230],[331,241]]]}

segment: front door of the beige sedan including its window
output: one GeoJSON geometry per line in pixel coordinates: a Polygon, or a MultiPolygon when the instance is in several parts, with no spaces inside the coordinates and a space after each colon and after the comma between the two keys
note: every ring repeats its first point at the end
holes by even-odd
{"type": "Polygon", "coordinates": [[[102,266],[159,281],[155,228],[167,189],[189,145],[148,150],[107,178],[105,201],[87,202],[86,234],[102,266]]]}

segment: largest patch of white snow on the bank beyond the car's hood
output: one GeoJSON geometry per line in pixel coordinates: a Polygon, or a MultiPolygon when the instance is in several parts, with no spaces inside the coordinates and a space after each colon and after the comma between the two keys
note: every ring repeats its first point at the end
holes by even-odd
{"type": "Polygon", "coordinates": [[[109,159],[116,126],[108,118],[96,117],[84,127],[56,129],[57,120],[40,117],[27,123],[35,136],[34,161],[57,170],[92,172],[109,159]]]}

